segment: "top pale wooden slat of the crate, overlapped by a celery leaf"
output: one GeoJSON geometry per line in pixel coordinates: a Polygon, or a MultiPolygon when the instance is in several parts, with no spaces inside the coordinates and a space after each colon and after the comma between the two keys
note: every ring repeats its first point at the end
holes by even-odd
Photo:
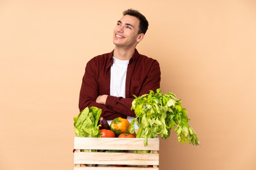
{"type": "Polygon", "coordinates": [[[149,138],[148,146],[144,146],[143,138],[75,137],[74,148],[98,150],[159,150],[159,138],[149,138]]]}

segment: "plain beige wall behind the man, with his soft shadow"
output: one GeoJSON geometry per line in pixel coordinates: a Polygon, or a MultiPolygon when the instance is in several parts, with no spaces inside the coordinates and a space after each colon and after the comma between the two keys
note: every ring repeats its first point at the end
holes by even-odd
{"type": "Polygon", "coordinates": [[[70,170],[85,64],[110,52],[125,9],[149,21],[141,54],[189,111],[200,147],[176,134],[161,170],[255,170],[254,0],[1,0],[0,169],[70,170]]]}

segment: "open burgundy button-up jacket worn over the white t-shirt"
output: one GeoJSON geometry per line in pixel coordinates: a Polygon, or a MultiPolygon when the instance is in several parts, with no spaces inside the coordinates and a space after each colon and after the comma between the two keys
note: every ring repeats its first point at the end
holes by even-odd
{"type": "Polygon", "coordinates": [[[139,54],[135,49],[129,60],[126,73],[126,98],[110,96],[110,66],[113,64],[113,52],[99,55],[88,61],[83,76],[79,109],[98,107],[102,109],[101,116],[106,120],[113,120],[127,116],[135,117],[132,110],[133,94],[141,96],[149,90],[156,92],[160,87],[159,63],[152,58],[139,54]],[[99,95],[109,95],[106,105],[95,102],[99,95]]]}

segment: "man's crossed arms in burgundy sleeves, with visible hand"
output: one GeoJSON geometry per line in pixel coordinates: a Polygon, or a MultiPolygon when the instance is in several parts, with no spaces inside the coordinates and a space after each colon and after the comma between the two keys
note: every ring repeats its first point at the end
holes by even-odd
{"type": "MultiPolygon", "coordinates": [[[[132,100],[134,98],[115,97],[106,94],[99,95],[99,82],[97,75],[93,70],[94,65],[88,62],[85,68],[85,74],[81,85],[79,97],[79,109],[85,107],[98,107],[102,110],[101,116],[106,120],[112,120],[117,117],[126,118],[126,116],[135,117],[135,113],[131,110],[132,100]]],[[[139,94],[141,96],[147,94],[149,90],[156,91],[160,87],[160,67],[157,61],[150,66],[150,71],[143,81],[139,94]]]]}

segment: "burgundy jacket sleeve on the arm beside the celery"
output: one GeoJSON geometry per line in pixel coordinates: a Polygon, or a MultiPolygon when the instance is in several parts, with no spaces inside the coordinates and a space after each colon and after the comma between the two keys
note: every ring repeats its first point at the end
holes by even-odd
{"type": "MultiPolygon", "coordinates": [[[[155,60],[151,65],[138,96],[148,94],[149,90],[156,92],[156,89],[160,87],[160,76],[161,72],[159,63],[155,60]]],[[[118,113],[125,114],[126,116],[135,117],[134,110],[131,110],[133,99],[134,98],[108,96],[106,100],[106,107],[118,113]]]]}

